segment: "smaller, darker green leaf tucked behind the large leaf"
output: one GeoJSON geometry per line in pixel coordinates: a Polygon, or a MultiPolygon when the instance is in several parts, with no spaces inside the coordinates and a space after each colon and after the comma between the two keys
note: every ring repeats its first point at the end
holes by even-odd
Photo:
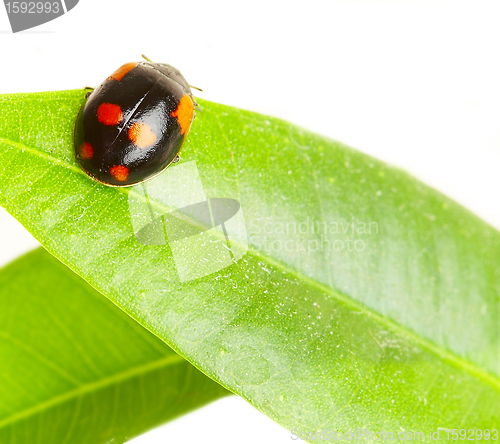
{"type": "Polygon", "coordinates": [[[227,392],[43,249],[0,270],[0,442],[124,442],[227,392]]]}

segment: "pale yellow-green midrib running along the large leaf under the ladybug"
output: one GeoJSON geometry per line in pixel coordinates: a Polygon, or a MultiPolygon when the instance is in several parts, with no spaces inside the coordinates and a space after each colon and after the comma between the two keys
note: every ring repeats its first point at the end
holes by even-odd
{"type": "MultiPolygon", "coordinates": [[[[217,116],[217,119],[218,119],[218,116],[217,116]]],[[[75,165],[73,165],[73,164],[71,164],[71,163],[69,163],[67,161],[60,160],[60,159],[58,159],[58,158],[56,158],[56,157],[54,157],[54,156],[52,156],[52,155],[50,155],[50,154],[48,154],[46,152],[39,151],[39,150],[37,150],[35,148],[23,145],[23,144],[21,144],[19,142],[15,142],[13,140],[0,137],[0,144],[3,141],[6,141],[9,144],[14,145],[15,147],[17,147],[17,148],[19,148],[21,150],[27,150],[27,151],[33,153],[34,155],[36,155],[38,157],[42,157],[42,158],[47,159],[49,162],[56,163],[56,164],[61,165],[61,166],[65,167],[65,168],[67,168],[67,169],[75,171],[78,174],[81,174],[82,176],[87,177],[87,175],[83,172],[82,169],[76,167],[75,165]]],[[[98,184],[96,184],[94,186],[98,186],[98,184]]],[[[122,188],[114,187],[113,189],[116,190],[119,193],[124,194],[124,195],[130,195],[130,194],[132,194],[133,196],[137,197],[139,200],[144,200],[142,195],[137,194],[137,193],[135,193],[133,191],[130,191],[130,188],[127,188],[127,187],[122,187],[122,188]]],[[[175,210],[175,208],[169,208],[167,206],[163,206],[163,207],[161,207],[159,205],[157,205],[157,206],[159,208],[167,208],[168,210],[175,210]]],[[[190,221],[191,221],[191,223],[193,222],[192,220],[190,220],[190,221]]],[[[422,336],[418,335],[414,331],[409,330],[406,327],[398,324],[397,322],[395,322],[391,318],[382,316],[380,313],[374,311],[373,309],[367,307],[366,305],[361,304],[359,301],[356,301],[356,300],[352,299],[351,297],[349,297],[349,296],[347,296],[347,295],[339,292],[338,290],[330,288],[330,287],[326,286],[325,284],[322,284],[322,283],[320,283],[320,282],[318,282],[318,281],[310,278],[309,276],[303,275],[299,270],[297,270],[295,268],[292,268],[291,266],[289,266],[288,264],[286,264],[284,262],[281,262],[281,261],[279,261],[277,259],[274,259],[272,257],[263,255],[261,252],[259,252],[259,251],[255,250],[255,249],[251,248],[250,245],[247,246],[247,252],[249,252],[253,256],[255,256],[255,257],[257,257],[257,258],[259,258],[259,259],[261,259],[263,261],[266,261],[269,264],[271,264],[271,265],[273,265],[273,266],[281,269],[282,271],[284,271],[284,272],[286,272],[286,273],[288,273],[288,274],[296,277],[300,281],[306,282],[308,285],[310,285],[310,286],[312,286],[312,287],[314,287],[314,288],[316,288],[316,289],[318,289],[318,290],[320,290],[320,291],[322,291],[322,292],[324,292],[326,294],[332,295],[332,297],[334,299],[337,299],[338,301],[343,302],[347,306],[355,308],[359,312],[361,312],[361,313],[363,313],[363,314],[365,314],[365,315],[367,315],[369,317],[374,318],[380,324],[385,325],[388,329],[391,329],[393,331],[399,332],[403,336],[407,336],[407,337],[411,338],[416,344],[419,344],[422,348],[427,349],[428,351],[432,352],[438,358],[441,358],[441,359],[446,360],[446,361],[448,361],[450,363],[453,363],[458,368],[465,369],[466,371],[468,371],[472,375],[475,375],[478,378],[485,380],[486,382],[488,382],[489,384],[491,384],[492,386],[494,386],[496,389],[500,390],[500,379],[497,376],[492,375],[491,373],[489,373],[489,372],[481,369],[480,367],[478,367],[475,364],[470,363],[469,361],[466,361],[464,358],[461,358],[461,357],[457,356],[453,352],[451,352],[451,351],[449,351],[447,349],[444,349],[442,347],[439,347],[438,345],[434,344],[432,341],[430,341],[430,340],[428,340],[426,338],[423,338],[422,336]]],[[[64,261],[62,261],[62,262],[64,262],[64,261]]],[[[73,267],[71,267],[71,266],[70,266],[70,268],[73,269],[73,267]]],[[[98,290],[100,292],[99,289],[96,289],[96,290],[98,290]]],[[[160,339],[162,339],[162,338],[160,337],[160,339]]],[[[185,357],[185,358],[189,362],[191,362],[191,360],[188,357],[185,357]]],[[[195,363],[193,363],[193,365],[195,365],[196,367],[199,367],[195,363]]],[[[2,425],[2,422],[0,422],[0,426],[1,425],[2,425]]]]}

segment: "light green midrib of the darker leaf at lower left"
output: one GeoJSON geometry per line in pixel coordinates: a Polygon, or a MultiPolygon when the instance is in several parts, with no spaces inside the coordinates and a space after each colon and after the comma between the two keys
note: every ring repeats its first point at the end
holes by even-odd
{"type": "Polygon", "coordinates": [[[153,362],[149,362],[145,365],[141,365],[139,367],[134,367],[129,370],[126,370],[121,373],[114,374],[112,376],[108,376],[104,379],[100,379],[95,382],[91,382],[88,384],[81,385],[80,387],[70,390],[66,393],[62,393],[58,396],[55,396],[51,399],[48,399],[46,401],[43,401],[33,407],[29,407],[21,412],[14,413],[13,415],[3,419],[0,421],[0,429],[2,429],[5,426],[12,425],[16,422],[19,422],[25,418],[29,418],[33,415],[36,415],[37,413],[43,412],[51,407],[55,407],[59,404],[63,404],[64,402],[70,401],[71,399],[75,399],[78,397],[81,397],[83,395],[86,395],[87,393],[92,393],[97,390],[106,388],[106,387],[111,387],[112,385],[116,385],[118,383],[124,382],[127,379],[132,379],[136,376],[139,375],[144,375],[148,372],[152,372],[154,370],[158,370],[161,368],[167,368],[172,365],[175,365],[180,362],[186,362],[186,360],[175,354],[171,356],[167,356],[162,359],[158,359],[153,362]]]}

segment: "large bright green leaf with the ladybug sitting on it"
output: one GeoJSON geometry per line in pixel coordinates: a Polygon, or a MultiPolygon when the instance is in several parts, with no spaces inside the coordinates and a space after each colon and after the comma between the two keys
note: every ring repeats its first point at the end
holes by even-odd
{"type": "MultiPolygon", "coordinates": [[[[289,429],[498,427],[496,230],[340,143],[200,100],[183,161],[158,184],[195,161],[206,196],[240,202],[248,251],[237,259],[240,231],[241,248],[222,245],[236,245],[235,263],[194,279],[220,259],[195,260],[216,235],[189,248],[136,240],[129,197],[148,203],[149,184],[109,188],[80,171],[83,96],[1,99],[0,203],[92,286],[289,429]]],[[[184,198],[191,179],[178,179],[184,198]]],[[[156,215],[175,208],[152,200],[156,215]]]]}

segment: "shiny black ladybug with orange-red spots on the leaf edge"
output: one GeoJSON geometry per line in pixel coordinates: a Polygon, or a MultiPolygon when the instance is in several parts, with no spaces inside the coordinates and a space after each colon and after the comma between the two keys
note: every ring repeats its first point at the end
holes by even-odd
{"type": "Polygon", "coordinates": [[[76,160],[105,185],[131,186],[177,162],[195,116],[179,70],[144,58],[87,93],[76,118],[76,160]]]}

